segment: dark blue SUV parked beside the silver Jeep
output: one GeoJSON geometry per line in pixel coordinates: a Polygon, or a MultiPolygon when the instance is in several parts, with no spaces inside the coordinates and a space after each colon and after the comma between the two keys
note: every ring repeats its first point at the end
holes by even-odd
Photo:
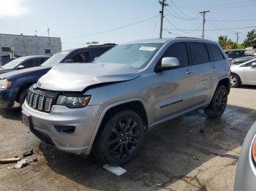
{"type": "Polygon", "coordinates": [[[25,101],[29,87],[57,63],[91,62],[112,47],[114,45],[83,47],[62,51],[53,55],[39,67],[0,74],[0,108],[10,108],[15,101],[21,106],[25,101]]]}

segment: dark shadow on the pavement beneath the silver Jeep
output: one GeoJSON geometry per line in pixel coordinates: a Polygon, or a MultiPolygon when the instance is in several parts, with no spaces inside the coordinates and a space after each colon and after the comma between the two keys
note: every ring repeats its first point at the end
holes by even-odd
{"type": "Polygon", "coordinates": [[[146,134],[141,152],[124,165],[127,173],[122,176],[106,171],[94,156],[83,159],[53,147],[45,148],[44,144],[40,149],[56,174],[91,189],[157,190],[183,179],[213,157],[237,159],[237,155],[227,152],[241,146],[255,119],[255,110],[227,106],[218,119],[208,118],[199,110],[166,122],[146,134]]]}

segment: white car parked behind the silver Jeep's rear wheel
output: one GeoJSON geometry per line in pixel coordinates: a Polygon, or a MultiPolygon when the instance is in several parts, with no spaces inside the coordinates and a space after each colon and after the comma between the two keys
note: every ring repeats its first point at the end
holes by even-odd
{"type": "Polygon", "coordinates": [[[231,87],[256,85],[256,58],[231,66],[230,85],[231,87]]]}

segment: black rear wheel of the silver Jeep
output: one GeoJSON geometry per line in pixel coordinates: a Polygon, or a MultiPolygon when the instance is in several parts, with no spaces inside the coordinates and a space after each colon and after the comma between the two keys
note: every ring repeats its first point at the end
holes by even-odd
{"type": "Polygon", "coordinates": [[[220,117],[227,106],[227,87],[220,85],[214,93],[214,97],[211,99],[209,106],[204,109],[205,113],[209,117],[220,117]]]}

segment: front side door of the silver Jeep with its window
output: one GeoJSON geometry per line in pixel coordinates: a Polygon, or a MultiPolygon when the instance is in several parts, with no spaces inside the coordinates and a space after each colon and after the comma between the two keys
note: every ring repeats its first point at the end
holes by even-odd
{"type": "Polygon", "coordinates": [[[157,85],[152,87],[154,94],[154,100],[152,101],[155,101],[155,122],[173,114],[178,114],[194,104],[195,80],[192,74],[192,66],[189,66],[186,44],[184,42],[171,44],[162,56],[162,58],[165,57],[178,58],[180,66],[177,69],[156,73],[150,79],[152,82],[157,82],[157,85]]]}

